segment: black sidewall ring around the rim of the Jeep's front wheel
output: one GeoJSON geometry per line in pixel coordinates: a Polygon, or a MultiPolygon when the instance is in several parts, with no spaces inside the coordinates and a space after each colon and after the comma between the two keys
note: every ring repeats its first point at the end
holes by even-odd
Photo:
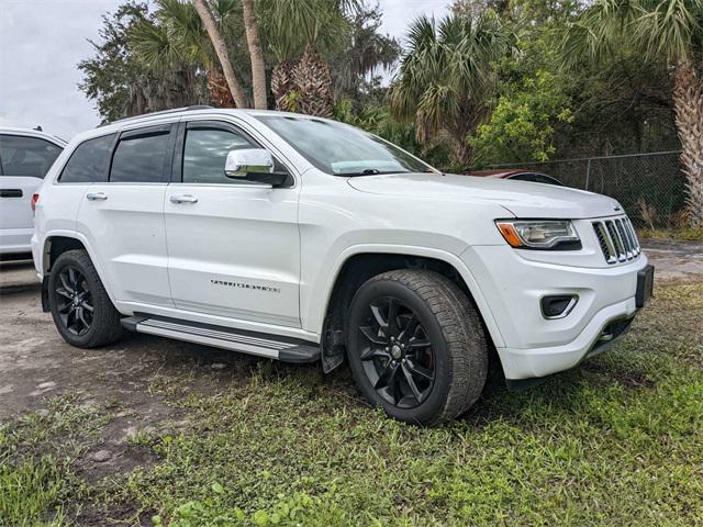
{"type": "Polygon", "coordinates": [[[451,384],[451,361],[447,341],[436,316],[425,300],[411,288],[393,280],[373,280],[357,291],[349,306],[347,318],[347,358],[357,386],[362,395],[376,406],[381,406],[388,415],[406,423],[426,424],[436,421],[443,413],[451,384]],[[359,358],[359,343],[364,337],[359,332],[369,313],[369,304],[379,298],[391,296],[410,307],[420,318],[434,351],[435,380],[432,392],[414,408],[399,408],[378,394],[364,370],[359,358]]]}

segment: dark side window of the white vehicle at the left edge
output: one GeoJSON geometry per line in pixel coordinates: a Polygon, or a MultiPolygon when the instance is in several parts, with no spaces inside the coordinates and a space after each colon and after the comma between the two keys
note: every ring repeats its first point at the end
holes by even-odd
{"type": "Polygon", "coordinates": [[[44,178],[63,148],[48,141],[0,135],[0,159],[5,176],[44,178]]]}

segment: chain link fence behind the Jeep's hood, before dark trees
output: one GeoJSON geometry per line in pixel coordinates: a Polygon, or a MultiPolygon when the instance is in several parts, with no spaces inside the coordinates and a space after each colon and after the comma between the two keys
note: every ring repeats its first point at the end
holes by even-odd
{"type": "Polygon", "coordinates": [[[554,176],[568,187],[616,199],[637,227],[667,228],[678,226],[683,218],[685,177],[680,157],[679,150],[671,150],[489,168],[524,168],[554,176]]]}

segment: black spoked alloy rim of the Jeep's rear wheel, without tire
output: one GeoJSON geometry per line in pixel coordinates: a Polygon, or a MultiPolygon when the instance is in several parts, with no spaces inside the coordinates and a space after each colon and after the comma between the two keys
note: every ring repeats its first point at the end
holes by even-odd
{"type": "Polygon", "coordinates": [[[78,337],[92,325],[93,302],[86,277],[75,266],[66,266],[58,273],[55,287],[57,311],[64,327],[78,337]]]}

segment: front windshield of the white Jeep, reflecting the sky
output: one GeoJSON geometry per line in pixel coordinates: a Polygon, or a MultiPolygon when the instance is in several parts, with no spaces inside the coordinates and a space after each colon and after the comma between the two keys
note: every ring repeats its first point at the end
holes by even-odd
{"type": "Polygon", "coordinates": [[[256,115],[305,159],[335,176],[434,172],[429,165],[359,128],[314,117],[256,115]]]}

